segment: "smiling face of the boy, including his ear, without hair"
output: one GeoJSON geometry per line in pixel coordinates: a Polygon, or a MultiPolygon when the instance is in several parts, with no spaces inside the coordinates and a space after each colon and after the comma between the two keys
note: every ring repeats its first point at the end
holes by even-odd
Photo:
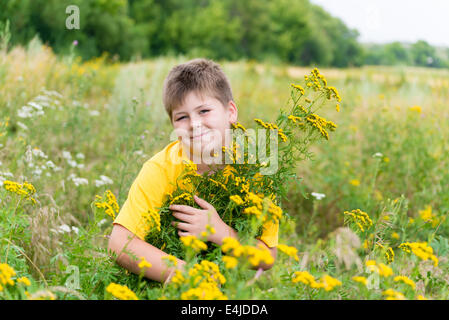
{"type": "Polygon", "coordinates": [[[182,105],[172,111],[172,124],[178,138],[196,154],[211,154],[225,145],[226,129],[237,121],[233,101],[227,106],[210,96],[189,92],[182,105]]]}

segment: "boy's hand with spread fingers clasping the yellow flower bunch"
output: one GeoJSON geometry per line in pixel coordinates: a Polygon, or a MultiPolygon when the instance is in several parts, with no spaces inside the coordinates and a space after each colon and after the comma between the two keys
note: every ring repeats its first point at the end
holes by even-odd
{"type": "Polygon", "coordinates": [[[193,235],[200,238],[201,232],[206,231],[206,225],[215,229],[214,234],[208,235],[207,241],[221,245],[223,238],[236,236],[236,231],[221,220],[213,205],[197,196],[193,198],[202,209],[175,204],[169,207],[173,211],[173,216],[182,221],[172,222],[172,225],[179,229],[180,237],[193,235]]]}

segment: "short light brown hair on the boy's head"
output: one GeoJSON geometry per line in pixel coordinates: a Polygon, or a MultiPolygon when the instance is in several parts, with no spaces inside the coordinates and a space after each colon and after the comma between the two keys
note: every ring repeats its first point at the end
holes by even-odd
{"type": "Polygon", "coordinates": [[[182,105],[188,93],[208,95],[224,106],[232,97],[229,80],[220,66],[212,60],[197,58],[173,67],[164,81],[162,101],[172,120],[173,110],[182,105]]]}

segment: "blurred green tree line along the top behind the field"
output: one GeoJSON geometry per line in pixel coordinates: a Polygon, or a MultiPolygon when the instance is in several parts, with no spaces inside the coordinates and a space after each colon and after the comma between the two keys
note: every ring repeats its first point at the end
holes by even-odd
{"type": "Polygon", "coordinates": [[[334,67],[406,64],[449,67],[424,41],[367,46],[309,0],[2,0],[11,45],[35,35],[57,53],[84,59],[107,52],[120,60],[184,54],[211,59],[271,60],[334,67]],[[80,10],[80,28],[66,28],[66,8],[80,10]],[[76,40],[76,42],[74,42],[76,40]]]}

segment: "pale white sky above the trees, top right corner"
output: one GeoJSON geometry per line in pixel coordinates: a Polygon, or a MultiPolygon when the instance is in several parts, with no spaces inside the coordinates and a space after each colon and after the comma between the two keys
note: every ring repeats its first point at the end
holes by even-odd
{"type": "Polygon", "coordinates": [[[449,0],[311,0],[357,29],[360,42],[449,47],[449,0]]]}

